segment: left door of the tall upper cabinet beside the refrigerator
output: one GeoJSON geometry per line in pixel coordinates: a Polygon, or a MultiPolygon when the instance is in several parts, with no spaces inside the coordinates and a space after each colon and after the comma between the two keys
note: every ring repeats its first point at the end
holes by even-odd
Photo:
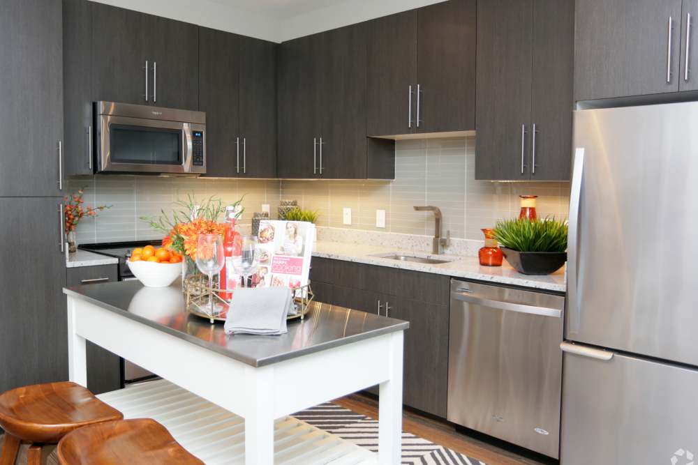
{"type": "Polygon", "coordinates": [[[476,179],[529,178],[533,0],[477,6],[476,179]]]}

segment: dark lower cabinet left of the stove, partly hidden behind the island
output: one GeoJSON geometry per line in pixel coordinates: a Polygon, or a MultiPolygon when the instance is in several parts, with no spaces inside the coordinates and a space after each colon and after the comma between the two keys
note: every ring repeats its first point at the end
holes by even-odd
{"type": "MultiPolygon", "coordinates": [[[[117,265],[68,268],[68,287],[117,280],[117,265]]],[[[100,346],[87,342],[87,388],[95,394],[121,389],[121,358],[100,346]]]]}

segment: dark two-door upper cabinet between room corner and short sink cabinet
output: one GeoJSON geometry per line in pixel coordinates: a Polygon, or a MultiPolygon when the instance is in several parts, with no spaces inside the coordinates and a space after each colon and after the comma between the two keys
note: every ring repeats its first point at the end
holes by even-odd
{"type": "Polygon", "coordinates": [[[394,142],[366,138],[366,24],[279,47],[280,178],[394,178],[394,142]]]}

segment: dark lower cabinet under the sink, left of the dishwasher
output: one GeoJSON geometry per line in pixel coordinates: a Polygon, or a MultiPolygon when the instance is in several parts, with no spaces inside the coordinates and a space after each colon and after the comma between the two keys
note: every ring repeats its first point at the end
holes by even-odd
{"type": "MultiPolygon", "coordinates": [[[[450,278],[313,258],[315,300],[410,322],[403,353],[403,404],[446,417],[450,278]]],[[[378,386],[368,389],[378,394],[378,386]]]]}

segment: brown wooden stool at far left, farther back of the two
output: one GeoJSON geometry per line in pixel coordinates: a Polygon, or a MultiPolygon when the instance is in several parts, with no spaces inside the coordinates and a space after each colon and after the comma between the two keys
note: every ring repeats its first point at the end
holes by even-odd
{"type": "Polygon", "coordinates": [[[22,441],[31,443],[27,465],[38,465],[41,446],[55,444],[74,429],[124,416],[82,386],[46,383],[8,390],[0,395],[0,427],[5,443],[0,465],[13,465],[22,441]]]}

